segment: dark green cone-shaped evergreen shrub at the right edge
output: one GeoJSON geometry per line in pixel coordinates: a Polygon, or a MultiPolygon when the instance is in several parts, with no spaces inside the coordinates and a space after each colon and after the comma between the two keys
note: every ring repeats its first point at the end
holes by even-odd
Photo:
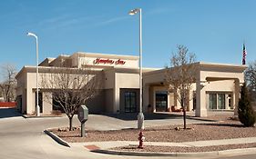
{"type": "Polygon", "coordinates": [[[246,127],[252,127],[255,124],[256,116],[251,106],[251,100],[248,94],[246,84],[241,87],[241,99],[238,107],[239,120],[246,127]]]}

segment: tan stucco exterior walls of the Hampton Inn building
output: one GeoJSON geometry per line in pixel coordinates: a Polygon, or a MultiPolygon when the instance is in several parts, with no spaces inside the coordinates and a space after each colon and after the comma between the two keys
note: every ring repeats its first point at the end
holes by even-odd
{"type": "MultiPolygon", "coordinates": [[[[56,59],[45,60],[39,67],[39,87],[41,83],[41,73],[47,75],[47,69],[51,70],[53,67],[50,65],[57,65],[67,60],[67,65],[72,67],[89,66],[94,70],[102,70],[104,72],[104,89],[96,96],[87,102],[87,106],[91,113],[123,113],[124,112],[124,91],[134,90],[139,94],[139,75],[138,75],[138,56],[130,55],[102,55],[102,54],[87,54],[75,53],[73,55],[60,55],[56,59]],[[107,60],[108,63],[104,64],[101,61],[96,63],[97,59],[107,60]],[[116,63],[118,60],[123,61],[120,65],[116,63]],[[111,61],[109,63],[109,61],[111,61]],[[113,63],[112,63],[113,62],[113,63]],[[48,64],[48,66],[46,66],[48,64]],[[43,70],[43,71],[42,71],[43,70]]],[[[240,85],[244,82],[243,71],[246,68],[244,65],[218,65],[218,64],[205,64],[196,63],[198,71],[195,75],[196,81],[192,85],[193,89],[190,92],[196,92],[197,110],[196,115],[207,115],[207,108],[209,104],[209,93],[225,93],[231,94],[232,107],[237,107],[240,85]]],[[[148,104],[151,105],[151,111],[156,110],[156,91],[167,90],[165,86],[165,69],[145,69],[143,71],[143,111],[148,112],[148,104]]],[[[92,75],[93,76],[93,75],[92,75]]],[[[22,112],[32,114],[35,112],[36,107],[36,67],[26,66],[18,75],[17,79],[17,95],[22,95],[22,112]]],[[[48,94],[46,90],[41,90],[44,94],[48,94]]],[[[225,97],[229,97],[226,95],[225,97]]],[[[43,97],[44,98],[44,97],[43,97]]],[[[139,102],[139,97],[137,102],[139,102]]],[[[175,94],[169,93],[168,95],[168,108],[175,105],[180,107],[175,94]]],[[[193,108],[193,101],[189,101],[189,110],[193,108]]],[[[50,113],[52,106],[43,100],[43,113],[50,113]]]]}

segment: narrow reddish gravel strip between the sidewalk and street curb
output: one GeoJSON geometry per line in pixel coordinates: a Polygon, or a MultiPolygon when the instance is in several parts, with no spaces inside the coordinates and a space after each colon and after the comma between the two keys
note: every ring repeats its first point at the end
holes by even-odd
{"type": "Polygon", "coordinates": [[[251,148],[256,147],[256,143],[253,144],[227,144],[227,145],[215,145],[205,147],[177,147],[177,146],[153,146],[145,145],[143,149],[137,148],[138,145],[128,145],[123,147],[115,147],[110,150],[128,151],[128,152],[155,152],[155,153],[197,153],[197,152],[212,152],[222,151],[239,148],[251,148]]]}

